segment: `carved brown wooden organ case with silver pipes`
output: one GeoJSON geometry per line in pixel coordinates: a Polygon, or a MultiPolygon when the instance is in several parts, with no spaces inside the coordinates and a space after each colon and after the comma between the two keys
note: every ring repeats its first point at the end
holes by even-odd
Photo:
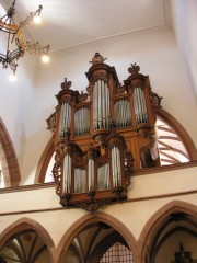
{"type": "Polygon", "coordinates": [[[56,193],[65,207],[96,210],[126,199],[132,171],[160,164],[154,124],[161,98],[136,64],[120,85],[104,61],[99,53],[92,58],[85,92],[71,90],[65,79],[47,119],[56,193]]]}

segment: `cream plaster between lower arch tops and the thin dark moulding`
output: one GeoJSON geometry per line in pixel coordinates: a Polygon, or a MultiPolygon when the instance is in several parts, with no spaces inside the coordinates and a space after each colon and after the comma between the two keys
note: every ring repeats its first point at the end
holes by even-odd
{"type": "MultiPolygon", "coordinates": [[[[119,220],[135,237],[139,239],[146,224],[160,208],[170,202],[173,197],[158,198],[151,201],[140,201],[132,203],[116,204],[101,209],[105,215],[111,215],[119,220]]],[[[197,194],[179,195],[176,201],[187,202],[197,205],[197,194]]],[[[81,220],[88,213],[81,209],[60,209],[48,211],[26,211],[22,214],[1,215],[0,231],[4,231],[9,226],[21,218],[30,218],[42,225],[51,237],[57,247],[63,235],[73,226],[74,222],[81,220]]],[[[96,213],[94,214],[96,217],[96,213]]],[[[67,237],[69,238],[69,237],[67,237]]]]}

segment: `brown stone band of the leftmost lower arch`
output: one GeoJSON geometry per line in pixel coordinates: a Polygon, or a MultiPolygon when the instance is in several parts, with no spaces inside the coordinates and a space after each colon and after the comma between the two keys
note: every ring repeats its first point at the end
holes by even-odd
{"type": "Polygon", "coordinates": [[[0,235],[0,250],[3,248],[5,242],[15,233],[25,230],[25,229],[33,229],[35,230],[44,240],[44,242],[47,245],[47,249],[50,254],[51,262],[55,258],[55,244],[49,236],[49,233],[46,231],[46,229],[38,224],[37,221],[30,219],[27,217],[23,217],[15,222],[11,224],[7,229],[3,230],[3,232],[0,235]]]}

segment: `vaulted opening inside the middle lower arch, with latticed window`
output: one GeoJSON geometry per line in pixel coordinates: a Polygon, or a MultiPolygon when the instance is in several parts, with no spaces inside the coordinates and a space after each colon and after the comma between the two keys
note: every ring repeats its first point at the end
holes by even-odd
{"type": "Polygon", "coordinates": [[[126,240],[105,222],[91,224],[78,233],[61,263],[135,263],[135,255],[126,240]]]}

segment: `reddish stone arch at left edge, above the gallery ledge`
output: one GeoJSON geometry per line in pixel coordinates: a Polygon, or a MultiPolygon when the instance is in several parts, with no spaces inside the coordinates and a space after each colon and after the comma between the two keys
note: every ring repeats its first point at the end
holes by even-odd
{"type": "Polygon", "coordinates": [[[0,161],[5,186],[18,186],[21,180],[18,158],[12,140],[0,117],[0,161]]]}

